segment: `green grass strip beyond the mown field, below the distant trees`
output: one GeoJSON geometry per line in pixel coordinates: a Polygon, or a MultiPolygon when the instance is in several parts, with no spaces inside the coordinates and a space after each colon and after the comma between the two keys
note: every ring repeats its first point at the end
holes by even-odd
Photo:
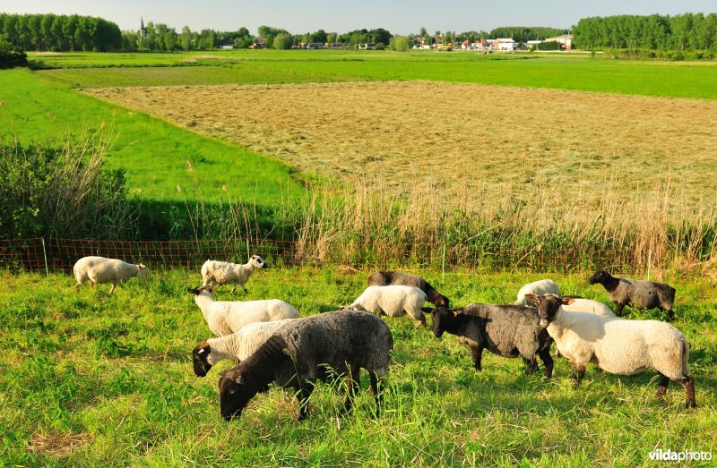
{"type": "Polygon", "coordinates": [[[41,72],[69,86],[206,85],[307,81],[428,80],[527,88],[717,98],[717,64],[610,60],[589,55],[479,55],[346,51],[232,51],[192,54],[58,55],[41,72]],[[201,58],[206,55],[222,58],[201,58]],[[186,62],[191,58],[196,63],[186,62]],[[201,64],[206,66],[175,66],[201,64]],[[131,66],[102,68],[108,66],[131,66]],[[147,67],[160,67],[147,68],[147,67]]]}

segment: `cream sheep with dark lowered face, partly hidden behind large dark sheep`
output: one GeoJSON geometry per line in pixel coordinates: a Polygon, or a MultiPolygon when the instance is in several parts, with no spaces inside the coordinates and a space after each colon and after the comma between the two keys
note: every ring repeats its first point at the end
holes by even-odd
{"type": "Polygon", "coordinates": [[[212,366],[225,359],[245,360],[263,345],[276,330],[295,319],[274,320],[272,322],[255,322],[230,335],[209,338],[200,342],[192,351],[194,374],[198,377],[207,375],[212,366]]]}

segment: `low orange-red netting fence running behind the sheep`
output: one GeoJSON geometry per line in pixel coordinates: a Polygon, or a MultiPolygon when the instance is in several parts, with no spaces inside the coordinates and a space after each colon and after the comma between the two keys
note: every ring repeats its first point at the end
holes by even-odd
{"type": "Polygon", "coordinates": [[[194,241],[100,241],[91,239],[0,240],[0,268],[16,272],[71,272],[89,255],[143,263],[151,269],[199,269],[205,260],[245,263],[258,254],[274,268],[341,266],[368,269],[438,269],[576,272],[596,268],[634,271],[629,251],[491,247],[416,243],[399,249],[341,243],[317,246],[296,241],[222,239],[194,241]]]}

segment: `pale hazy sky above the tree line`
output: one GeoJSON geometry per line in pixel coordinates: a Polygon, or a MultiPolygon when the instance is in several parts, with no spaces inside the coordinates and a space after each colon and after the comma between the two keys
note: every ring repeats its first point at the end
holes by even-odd
{"type": "Polygon", "coordinates": [[[164,22],[180,30],[237,30],[252,33],[260,25],[297,34],[324,29],[345,32],[384,28],[393,34],[436,30],[492,30],[499,26],[569,28],[580,18],[613,14],[717,13],[715,0],[513,0],[482,2],[455,0],[0,0],[4,13],[86,14],[115,21],[122,30],[139,28],[144,21],[164,22]]]}

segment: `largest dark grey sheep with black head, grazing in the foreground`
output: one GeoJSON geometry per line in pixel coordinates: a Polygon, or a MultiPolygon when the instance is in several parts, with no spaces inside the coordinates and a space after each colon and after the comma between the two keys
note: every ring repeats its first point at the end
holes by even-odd
{"type": "Polygon", "coordinates": [[[378,414],[378,379],[388,371],[392,349],[393,336],[384,320],[366,312],[334,311],[298,319],[221,376],[221,416],[228,421],[238,418],[249,400],[274,382],[294,389],[298,418],[303,420],[315,381],[332,377],[330,370],[346,377],[349,392],[344,407],[348,412],[361,368],[368,371],[378,414]]]}

